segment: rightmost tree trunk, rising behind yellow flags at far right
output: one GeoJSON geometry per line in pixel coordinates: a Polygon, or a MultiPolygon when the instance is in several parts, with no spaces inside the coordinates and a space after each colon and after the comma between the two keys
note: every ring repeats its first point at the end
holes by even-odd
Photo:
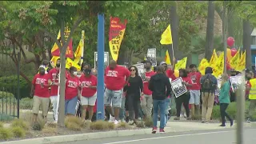
{"type": "Polygon", "coordinates": [[[246,68],[252,70],[252,63],[251,63],[251,37],[250,34],[252,32],[252,27],[250,26],[250,22],[248,20],[243,20],[243,38],[242,38],[242,45],[246,50],[246,68]]]}

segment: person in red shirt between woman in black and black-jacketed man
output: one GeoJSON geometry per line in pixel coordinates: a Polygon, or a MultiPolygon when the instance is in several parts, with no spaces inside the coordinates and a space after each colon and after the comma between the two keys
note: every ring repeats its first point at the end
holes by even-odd
{"type": "Polygon", "coordinates": [[[143,114],[145,114],[145,118],[150,117],[152,107],[153,107],[152,91],[149,90],[148,88],[150,78],[155,74],[155,72],[152,71],[151,67],[152,67],[152,63],[150,61],[146,61],[145,63],[146,78],[145,78],[145,81],[143,82],[144,89],[143,89],[143,96],[141,100],[142,111],[143,111],[143,114]]]}

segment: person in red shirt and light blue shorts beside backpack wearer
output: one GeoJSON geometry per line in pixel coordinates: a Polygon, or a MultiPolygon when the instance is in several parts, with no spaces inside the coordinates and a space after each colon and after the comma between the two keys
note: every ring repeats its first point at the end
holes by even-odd
{"type": "Polygon", "coordinates": [[[190,65],[190,74],[188,75],[191,78],[192,86],[190,87],[190,106],[191,106],[191,117],[194,118],[195,111],[197,114],[200,114],[200,90],[201,83],[200,79],[202,74],[197,70],[197,66],[194,64],[190,65]]]}

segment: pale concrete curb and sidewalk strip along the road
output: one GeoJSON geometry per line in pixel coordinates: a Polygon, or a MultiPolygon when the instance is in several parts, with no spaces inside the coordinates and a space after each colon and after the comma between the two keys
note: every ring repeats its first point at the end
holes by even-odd
{"type": "MultiPolygon", "coordinates": [[[[159,122],[158,122],[159,124],[159,122]]],[[[171,132],[185,132],[185,131],[194,131],[194,130],[216,130],[216,129],[229,129],[230,126],[219,127],[218,123],[199,123],[199,122],[168,122],[165,128],[166,133],[171,132]]],[[[232,129],[235,128],[235,124],[232,129]]],[[[254,127],[256,124],[254,122],[245,123],[245,127],[254,127]]],[[[74,142],[74,141],[84,141],[96,138],[112,138],[112,137],[122,137],[122,136],[132,136],[139,134],[151,134],[151,128],[141,129],[141,130],[111,130],[107,132],[95,132],[87,134],[74,134],[74,135],[61,135],[54,137],[45,137],[45,138],[31,138],[24,139],[20,141],[12,142],[1,142],[2,144],[42,144],[42,143],[58,143],[58,142],[74,142]]]]}

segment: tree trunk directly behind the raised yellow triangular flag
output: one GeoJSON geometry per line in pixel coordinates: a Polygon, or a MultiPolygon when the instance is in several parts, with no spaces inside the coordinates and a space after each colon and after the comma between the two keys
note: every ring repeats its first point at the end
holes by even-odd
{"type": "Polygon", "coordinates": [[[172,50],[172,46],[168,47],[169,55],[171,58],[171,61],[173,59],[173,55],[176,58],[182,58],[182,52],[178,50],[178,14],[177,14],[177,2],[174,2],[172,6],[170,6],[170,28],[171,28],[171,34],[173,38],[173,49],[174,54],[172,50]]]}

